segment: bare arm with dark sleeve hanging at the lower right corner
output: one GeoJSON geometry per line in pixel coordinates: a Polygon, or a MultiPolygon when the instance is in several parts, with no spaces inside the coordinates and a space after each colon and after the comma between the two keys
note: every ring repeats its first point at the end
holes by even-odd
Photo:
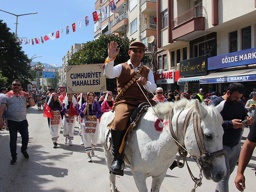
{"type": "Polygon", "coordinates": [[[256,121],[254,121],[254,123],[252,124],[251,130],[247,136],[247,139],[244,142],[243,148],[239,156],[239,164],[238,164],[237,174],[235,179],[236,188],[239,191],[244,191],[245,189],[244,170],[248,165],[249,161],[251,160],[252,153],[255,147],[256,147],[256,121]]]}

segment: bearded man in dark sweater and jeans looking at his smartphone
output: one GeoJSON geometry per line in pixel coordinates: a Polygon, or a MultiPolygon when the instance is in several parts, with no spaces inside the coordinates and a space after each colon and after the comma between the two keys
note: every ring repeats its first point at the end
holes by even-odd
{"type": "Polygon", "coordinates": [[[228,180],[230,174],[234,171],[236,163],[241,151],[241,132],[242,127],[246,124],[252,124],[252,117],[249,117],[245,111],[243,101],[240,99],[244,93],[244,85],[241,83],[231,83],[227,88],[227,92],[222,97],[218,97],[211,101],[210,105],[219,105],[221,101],[226,100],[223,110],[220,112],[224,129],[223,149],[227,151],[225,154],[225,162],[227,166],[226,177],[217,183],[216,192],[228,191],[228,180]],[[247,122],[242,123],[245,119],[247,122]]]}

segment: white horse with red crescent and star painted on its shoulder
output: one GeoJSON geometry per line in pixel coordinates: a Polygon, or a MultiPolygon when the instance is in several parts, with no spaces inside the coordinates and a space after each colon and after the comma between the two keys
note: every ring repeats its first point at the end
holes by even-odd
{"type": "MultiPolygon", "coordinates": [[[[181,99],[174,103],[159,103],[153,108],[159,118],[163,120],[162,122],[166,129],[161,124],[152,107],[144,112],[137,122],[137,128],[135,127],[128,135],[124,147],[125,156],[128,162],[130,162],[133,178],[140,192],[148,191],[146,178],[150,176],[152,177],[151,191],[159,191],[166,172],[175,160],[176,153],[178,152],[178,146],[170,136],[170,109],[173,108],[171,123],[176,136],[176,130],[178,130],[177,138],[179,143],[185,146],[190,154],[199,157],[200,151],[194,133],[193,115],[188,120],[185,137],[183,136],[185,116],[190,109],[190,111],[193,110],[192,112],[196,112],[200,116],[201,121],[199,121],[199,125],[202,128],[205,149],[210,154],[222,149],[222,135],[224,132],[221,126],[223,120],[219,112],[223,106],[224,102],[221,102],[220,105],[214,108],[212,106],[203,106],[198,100],[188,101],[186,99],[181,99]]],[[[107,150],[106,146],[106,140],[108,140],[108,138],[106,139],[106,135],[108,134],[107,125],[113,119],[114,115],[115,113],[107,112],[101,117],[100,121],[100,142],[104,146],[108,169],[111,167],[113,156],[111,149],[107,150]]],[[[222,180],[227,173],[224,156],[221,155],[212,160],[208,168],[203,169],[203,173],[206,179],[212,179],[214,182],[222,180]]],[[[117,190],[115,176],[109,174],[112,192],[117,190]]]]}

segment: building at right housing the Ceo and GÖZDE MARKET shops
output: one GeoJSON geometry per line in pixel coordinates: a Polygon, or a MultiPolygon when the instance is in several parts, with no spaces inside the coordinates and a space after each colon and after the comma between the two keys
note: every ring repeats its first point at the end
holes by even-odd
{"type": "Polygon", "coordinates": [[[157,86],[223,93],[239,81],[255,91],[256,1],[161,0],[156,12],[157,86]]]}

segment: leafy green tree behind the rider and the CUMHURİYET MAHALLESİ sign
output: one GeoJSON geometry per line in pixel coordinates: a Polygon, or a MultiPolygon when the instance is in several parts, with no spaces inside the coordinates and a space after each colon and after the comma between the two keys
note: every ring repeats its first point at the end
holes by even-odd
{"type": "MultiPolygon", "coordinates": [[[[68,65],[104,63],[108,57],[108,43],[111,41],[117,42],[117,47],[120,47],[120,51],[116,56],[114,65],[124,63],[130,59],[130,56],[128,55],[129,45],[135,40],[136,39],[130,40],[127,37],[121,38],[115,35],[101,35],[98,39],[87,42],[80,51],[72,54],[68,60],[68,65]]],[[[145,54],[141,62],[147,63],[149,61],[148,55],[145,54]]],[[[114,87],[116,87],[116,79],[107,78],[106,83],[107,90],[114,91],[114,87]]]]}

